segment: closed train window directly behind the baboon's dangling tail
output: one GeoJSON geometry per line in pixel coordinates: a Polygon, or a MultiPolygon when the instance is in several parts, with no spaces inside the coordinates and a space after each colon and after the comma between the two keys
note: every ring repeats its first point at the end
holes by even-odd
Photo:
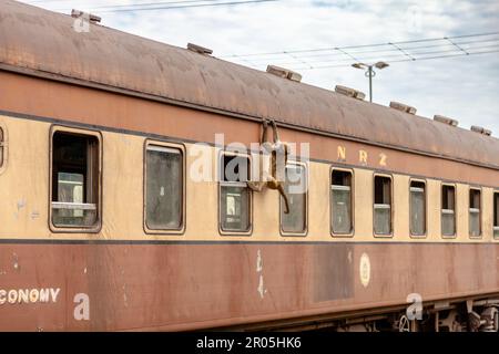
{"type": "Polygon", "coordinates": [[[281,199],[281,230],[287,235],[304,235],[307,231],[307,178],[304,165],[286,166],[284,191],[289,201],[289,212],[285,214],[285,201],[281,199]]]}

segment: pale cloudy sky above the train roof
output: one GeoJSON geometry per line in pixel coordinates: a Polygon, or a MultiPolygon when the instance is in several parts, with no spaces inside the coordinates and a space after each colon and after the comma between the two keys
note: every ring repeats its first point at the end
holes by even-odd
{"type": "Polygon", "coordinates": [[[418,115],[449,116],[458,119],[461,127],[480,125],[499,136],[498,0],[279,0],[118,12],[109,10],[126,8],[104,8],[157,2],[163,3],[162,7],[175,7],[235,1],[243,0],[23,2],[64,13],[72,8],[91,11],[103,18],[104,25],[179,46],[196,43],[213,49],[215,56],[261,70],[265,70],[267,64],[293,69],[303,74],[304,82],[329,90],[340,84],[368,94],[364,73],[349,65],[356,60],[370,64],[386,61],[390,66],[378,71],[374,79],[374,102],[383,105],[390,101],[403,102],[417,107],[418,115]],[[466,37],[483,33],[492,34],[466,37]],[[395,45],[347,50],[355,60],[332,50],[445,37],[451,38],[461,50],[446,40],[396,44],[405,53],[395,45]],[[307,52],[316,49],[329,50],[307,52]],[[491,53],[396,62],[465,52],[491,53]],[[233,56],[241,54],[258,55],[233,56]]]}

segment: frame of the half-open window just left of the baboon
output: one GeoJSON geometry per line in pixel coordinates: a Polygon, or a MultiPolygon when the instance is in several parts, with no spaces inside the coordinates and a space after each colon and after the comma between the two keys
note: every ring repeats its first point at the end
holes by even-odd
{"type": "Polygon", "coordinates": [[[217,204],[218,204],[218,208],[217,208],[217,219],[218,219],[218,233],[220,236],[224,236],[224,237],[238,237],[238,236],[244,236],[244,237],[251,237],[253,235],[253,190],[247,186],[247,184],[245,183],[226,183],[222,180],[222,176],[221,176],[221,171],[222,171],[222,158],[224,156],[232,156],[232,157],[244,157],[247,158],[247,160],[249,162],[249,166],[248,166],[248,173],[249,173],[249,179],[252,180],[253,177],[253,158],[251,154],[247,153],[240,153],[240,152],[231,152],[231,150],[220,150],[218,156],[217,156],[217,163],[216,163],[216,176],[218,179],[218,188],[217,188],[217,204]],[[236,187],[236,184],[241,184],[241,187],[243,187],[243,184],[246,185],[246,189],[248,192],[248,223],[249,227],[246,231],[237,231],[237,230],[224,230],[222,228],[222,187],[224,187],[224,184],[233,184],[234,187],[236,187]]]}

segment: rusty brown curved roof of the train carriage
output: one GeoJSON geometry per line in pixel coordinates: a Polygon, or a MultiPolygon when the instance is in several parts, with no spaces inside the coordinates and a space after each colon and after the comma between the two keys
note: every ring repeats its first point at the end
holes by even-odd
{"type": "Polygon", "coordinates": [[[0,65],[499,168],[499,139],[0,0],[0,65]]]}

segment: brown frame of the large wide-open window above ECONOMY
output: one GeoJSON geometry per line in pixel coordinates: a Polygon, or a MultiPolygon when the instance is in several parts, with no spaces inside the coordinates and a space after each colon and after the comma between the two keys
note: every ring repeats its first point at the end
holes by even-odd
{"type": "Polygon", "coordinates": [[[63,125],[52,125],[49,131],[49,229],[52,233],[99,233],[102,229],[103,223],[103,208],[102,208],[102,175],[103,175],[103,137],[102,133],[100,131],[93,131],[93,129],[83,129],[83,128],[74,128],[71,126],[63,126],[63,125]],[[52,174],[53,174],[53,137],[57,133],[63,133],[63,134],[73,134],[73,135],[81,135],[81,136],[88,136],[88,137],[94,137],[98,139],[98,166],[99,170],[96,171],[98,178],[98,191],[96,196],[99,198],[96,206],[96,221],[91,227],[58,227],[53,223],[53,212],[52,212],[52,191],[53,191],[53,180],[52,180],[52,174]]]}

